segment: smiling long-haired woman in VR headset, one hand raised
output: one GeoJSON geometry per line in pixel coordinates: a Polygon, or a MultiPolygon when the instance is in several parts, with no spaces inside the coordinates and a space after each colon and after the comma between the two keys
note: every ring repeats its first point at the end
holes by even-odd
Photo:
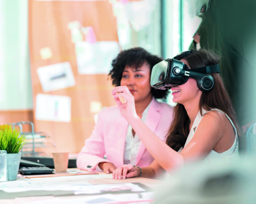
{"type": "MultiPolygon", "coordinates": [[[[186,74],[189,71],[192,73],[195,68],[209,69],[209,66],[219,63],[217,55],[204,49],[190,50],[174,59],[188,66],[186,74]]],[[[175,68],[172,67],[172,71],[175,68]]],[[[177,105],[174,108],[174,119],[169,127],[166,143],[159,140],[137,116],[134,98],[129,90],[122,86],[113,89],[112,94],[121,114],[132,125],[155,159],[150,166],[144,168],[132,164],[123,165],[113,172],[113,179],[155,177],[160,167],[169,171],[191,160],[226,160],[238,157],[240,127],[220,74],[205,74],[206,77],[211,76],[209,78],[212,78],[214,83],[207,91],[204,90],[204,85],[199,86],[200,77],[197,77],[197,73],[193,74],[197,80],[189,77],[183,84],[170,83],[173,101],[177,105]],[[119,96],[124,97],[126,103],[122,104],[119,96]]],[[[199,76],[202,75],[200,74],[199,76]]]]}

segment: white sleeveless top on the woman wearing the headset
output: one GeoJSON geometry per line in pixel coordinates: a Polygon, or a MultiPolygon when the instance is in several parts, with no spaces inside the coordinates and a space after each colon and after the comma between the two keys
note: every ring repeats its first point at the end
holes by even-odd
{"type": "MultiPolygon", "coordinates": [[[[236,133],[236,139],[234,140],[234,143],[233,145],[226,151],[222,152],[222,153],[218,153],[216,152],[215,150],[211,150],[209,155],[205,158],[205,160],[207,161],[211,161],[211,160],[226,160],[226,159],[230,159],[230,158],[236,158],[236,157],[239,157],[239,150],[238,150],[238,134],[237,134],[237,129],[236,127],[234,126],[232,120],[228,117],[227,114],[225,114],[224,112],[222,112],[221,110],[219,109],[211,109],[210,111],[219,111],[221,113],[223,113],[227,118],[228,120],[230,121],[232,127],[233,127],[233,130],[234,132],[236,133]]],[[[203,116],[210,112],[210,111],[206,111],[206,110],[202,110],[202,114],[200,114],[200,111],[198,112],[197,114],[197,117],[191,127],[191,130],[187,136],[187,140],[186,140],[186,143],[184,146],[186,146],[188,144],[188,142],[190,142],[190,140],[193,138],[196,130],[197,130],[197,127],[201,121],[201,119],[203,118],[203,116]]]]}

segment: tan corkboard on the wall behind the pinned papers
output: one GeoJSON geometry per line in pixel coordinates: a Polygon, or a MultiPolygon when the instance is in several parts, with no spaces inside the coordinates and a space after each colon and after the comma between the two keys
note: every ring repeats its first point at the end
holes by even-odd
{"type": "Polygon", "coordinates": [[[97,41],[118,41],[116,18],[109,1],[35,1],[29,0],[29,48],[34,98],[37,94],[69,96],[71,121],[37,120],[34,110],[35,131],[44,131],[56,144],[55,150],[69,150],[76,154],[94,127],[91,101],[100,101],[103,107],[114,105],[113,89],[107,74],[78,74],[74,43],[67,24],[79,21],[83,27],[94,29],[97,41]],[[42,59],[40,49],[50,47],[52,56],[42,59]],[[70,62],[75,86],[44,92],[37,68],[55,63],[70,62]]]}

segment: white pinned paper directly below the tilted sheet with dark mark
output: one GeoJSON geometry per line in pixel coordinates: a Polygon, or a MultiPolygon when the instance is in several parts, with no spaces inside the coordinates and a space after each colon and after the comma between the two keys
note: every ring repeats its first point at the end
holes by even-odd
{"type": "Polygon", "coordinates": [[[57,122],[70,122],[71,98],[50,94],[37,94],[35,118],[57,122]]]}

